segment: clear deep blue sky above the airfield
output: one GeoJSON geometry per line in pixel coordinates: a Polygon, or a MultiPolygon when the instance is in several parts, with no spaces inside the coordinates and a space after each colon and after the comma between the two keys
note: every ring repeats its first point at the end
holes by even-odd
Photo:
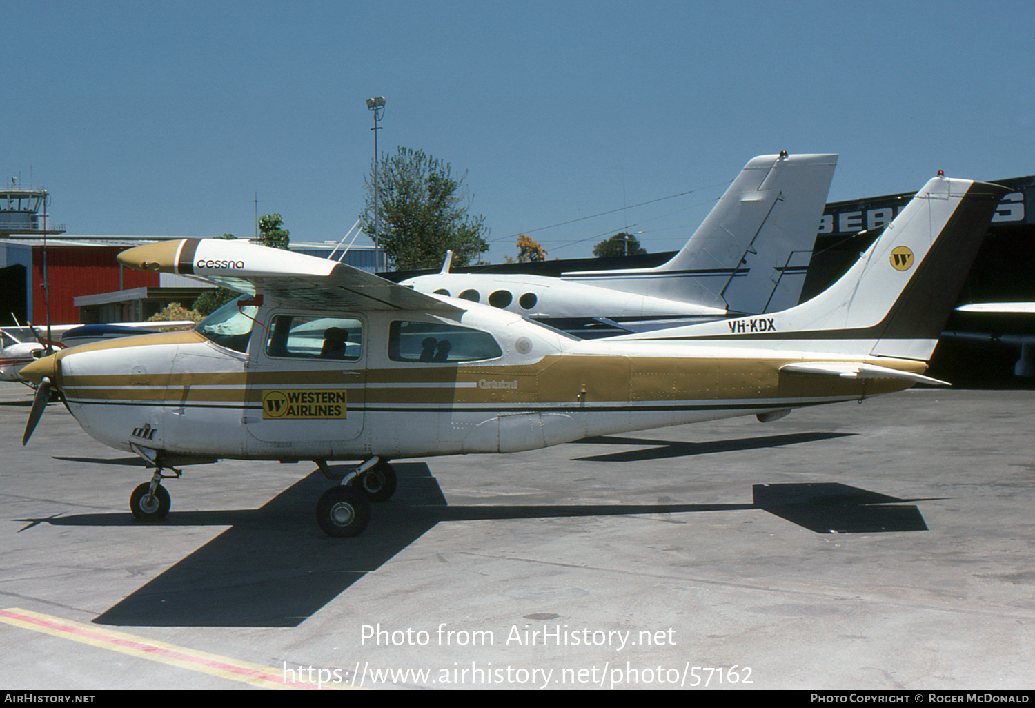
{"type": "Polygon", "coordinates": [[[831,201],[1035,174],[1031,0],[57,1],[0,38],[0,168],[75,234],[248,236],[258,194],[339,238],[377,95],[382,151],[467,172],[493,262],[678,248],[785,149],[840,154],[831,201]]]}

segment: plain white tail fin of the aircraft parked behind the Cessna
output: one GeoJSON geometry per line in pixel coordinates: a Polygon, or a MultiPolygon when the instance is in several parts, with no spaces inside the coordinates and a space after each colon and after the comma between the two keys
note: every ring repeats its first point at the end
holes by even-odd
{"type": "Polygon", "coordinates": [[[789,266],[796,253],[812,249],[836,164],[835,154],[755,157],[668,263],[562,277],[739,313],[790,306],[804,270],[793,273],[789,266]]]}

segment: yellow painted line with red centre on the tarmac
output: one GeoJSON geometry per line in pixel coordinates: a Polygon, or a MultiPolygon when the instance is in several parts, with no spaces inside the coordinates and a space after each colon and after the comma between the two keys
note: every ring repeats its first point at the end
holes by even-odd
{"type": "MultiPolygon", "coordinates": [[[[174,667],[180,667],[181,669],[200,671],[203,674],[219,676],[221,678],[230,679],[231,681],[239,681],[241,683],[247,683],[261,688],[301,688],[317,690],[320,687],[315,682],[309,683],[303,682],[302,680],[293,681],[286,679],[286,672],[280,671],[279,669],[232,659],[217,654],[209,654],[195,649],[185,649],[174,644],[156,642],[142,637],[126,635],[121,631],[100,629],[89,624],[80,624],[79,622],[72,622],[71,620],[61,619],[60,617],[52,617],[51,615],[43,615],[29,610],[20,610],[18,608],[0,610],[0,622],[6,622],[7,624],[12,624],[17,627],[32,629],[33,631],[39,631],[54,637],[69,639],[75,642],[82,642],[83,644],[90,644],[95,647],[100,647],[101,649],[119,651],[123,654],[129,654],[130,656],[138,656],[152,661],[169,663],[174,667]]],[[[293,678],[294,673],[292,672],[292,679],[293,678]]],[[[333,685],[324,683],[322,687],[324,689],[328,689],[353,688],[355,686],[341,683],[333,685]]]]}

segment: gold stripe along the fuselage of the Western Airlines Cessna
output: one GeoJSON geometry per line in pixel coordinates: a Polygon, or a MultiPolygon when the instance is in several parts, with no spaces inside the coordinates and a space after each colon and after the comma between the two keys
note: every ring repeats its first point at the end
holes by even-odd
{"type": "MultiPolygon", "coordinates": [[[[829,359],[817,359],[829,360],[829,359]]],[[[802,361],[795,359],[794,361],[802,361]]],[[[806,360],[807,361],[807,360],[806,360]]],[[[555,356],[534,364],[321,371],[66,376],[70,401],[175,405],[258,405],[269,388],[349,391],[351,407],[379,404],[528,405],[660,404],[796,400],[877,394],[911,385],[895,379],[854,380],[780,374],[788,359],[555,356]]],[[[882,360],[882,365],[888,362],[882,360]]],[[[893,362],[909,363],[909,362],[893,362]]],[[[922,363],[899,365],[921,373],[922,363]]]]}

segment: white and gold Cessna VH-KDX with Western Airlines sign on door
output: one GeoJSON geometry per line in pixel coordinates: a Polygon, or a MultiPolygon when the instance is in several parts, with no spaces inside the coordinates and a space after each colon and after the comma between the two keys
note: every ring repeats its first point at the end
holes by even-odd
{"type": "Polygon", "coordinates": [[[178,477],[174,466],[219,458],[312,460],[341,478],[317,505],[320,527],[356,535],[369,502],[394,491],[389,459],[528,450],[739,415],[769,421],[944,383],[923,376],[925,362],[1005,191],[933,179],[840,281],[790,309],[590,341],[260,245],[138,246],[119,261],[249,297],[191,331],[29,364],[22,374],[39,388],[23,443],[57,388],[88,434],[155,468],[130,498],[140,519],[169,511],[164,469],[178,477]]]}

